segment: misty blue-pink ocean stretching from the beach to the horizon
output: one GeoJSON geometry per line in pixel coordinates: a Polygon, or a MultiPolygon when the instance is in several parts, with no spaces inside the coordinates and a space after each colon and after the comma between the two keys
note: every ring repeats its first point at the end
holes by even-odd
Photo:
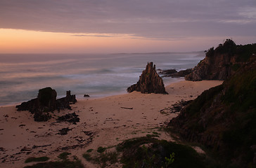
{"type": "MultiPolygon", "coordinates": [[[[202,52],[118,54],[0,54],[0,106],[27,102],[52,87],[59,97],[71,90],[77,99],[126,93],[148,62],[156,69],[193,68],[202,52]]],[[[184,78],[163,78],[165,85],[184,78]]],[[[88,98],[87,98],[88,99],[88,98]]]]}

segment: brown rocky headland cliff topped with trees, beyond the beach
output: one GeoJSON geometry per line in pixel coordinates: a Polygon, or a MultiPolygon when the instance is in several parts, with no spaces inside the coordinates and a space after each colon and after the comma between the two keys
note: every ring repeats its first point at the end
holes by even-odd
{"type": "Polygon", "coordinates": [[[233,75],[256,52],[256,44],[236,45],[230,39],[216,49],[210,48],[205,59],[185,76],[186,80],[225,80],[233,75]]]}

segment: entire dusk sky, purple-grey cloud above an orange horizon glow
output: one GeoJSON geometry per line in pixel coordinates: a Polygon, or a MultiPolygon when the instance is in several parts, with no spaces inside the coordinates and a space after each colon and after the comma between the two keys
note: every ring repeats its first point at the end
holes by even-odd
{"type": "Polygon", "coordinates": [[[188,52],[255,30],[255,0],[0,0],[0,53],[188,52]]]}

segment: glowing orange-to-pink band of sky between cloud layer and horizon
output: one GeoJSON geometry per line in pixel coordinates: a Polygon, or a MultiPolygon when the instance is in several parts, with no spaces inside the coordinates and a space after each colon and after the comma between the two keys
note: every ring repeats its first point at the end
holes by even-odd
{"type": "MultiPolygon", "coordinates": [[[[222,36],[153,39],[131,34],[72,34],[0,29],[0,53],[186,52],[207,50],[222,36]],[[202,41],[207,41],[203,43],[202,41]]],[[[238,38],[236,38],[238,39],[238,38]]]]}

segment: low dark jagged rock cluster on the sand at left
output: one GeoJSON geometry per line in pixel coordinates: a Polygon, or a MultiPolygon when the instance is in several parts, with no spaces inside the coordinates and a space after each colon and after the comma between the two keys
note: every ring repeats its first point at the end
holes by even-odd
{"type": "Polygon", "coordinates": [[[30,111],[34,113],[35,121],[46,121],[51,118],[49,112],[56,109],[71,109],[70,103],[75,104],[77,100],[75,95],[71,95],[70,91],[67,91],[66,97],[56,99],[57,92],[51,87],[46,87],[39,90],[37,98],[28,102],[16,106],[18,111],[30,111]]]}

